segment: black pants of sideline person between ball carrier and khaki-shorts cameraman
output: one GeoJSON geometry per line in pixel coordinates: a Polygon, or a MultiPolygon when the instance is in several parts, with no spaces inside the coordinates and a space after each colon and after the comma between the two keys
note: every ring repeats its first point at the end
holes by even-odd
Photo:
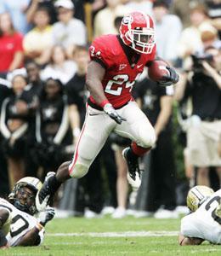
{"type": "Polygon", "coordinates": [[[164,206],[167,210],[176,207],[175,166],[172,132],[162,131],[156,148],[150,152],[150,169],[147,186],[146,210],[156,212],[164,206]]]}

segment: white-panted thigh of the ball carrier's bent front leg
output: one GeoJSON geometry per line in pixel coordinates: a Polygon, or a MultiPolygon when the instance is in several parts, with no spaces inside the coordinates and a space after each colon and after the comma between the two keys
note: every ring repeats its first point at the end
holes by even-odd
{"type": "Polygon", "coordinates": [[[128,137],[133,142],[144,148],[149,148],[156,142],[153,126],[136,102],[129,102],[125,107],[117,110],[127,121],[116,125],[116,133],[128,137]]]}

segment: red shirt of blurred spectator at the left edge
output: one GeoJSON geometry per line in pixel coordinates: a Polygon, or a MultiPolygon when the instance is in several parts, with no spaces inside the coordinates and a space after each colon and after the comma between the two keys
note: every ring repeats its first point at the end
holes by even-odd
{"type": "Polygon", "coordinates": [[[8,72],[15,53],[23,51],[22,40],[23,36],[19,32],[0,37],[0,72],[8,72]]]}

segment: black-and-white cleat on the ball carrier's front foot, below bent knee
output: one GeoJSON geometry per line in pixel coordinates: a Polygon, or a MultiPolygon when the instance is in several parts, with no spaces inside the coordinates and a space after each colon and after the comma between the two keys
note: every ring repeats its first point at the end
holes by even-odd
{"type": "Polygon", "coordinates": [[[139,170],[139,160],[132,160],[129,158],[127,154],[129,149],[130,148],[124,148],[122,150],[122,156],[127,161],[127,181],[131,184],[134,190],[137,190],[141,184],[141,170],[139,170]]]}

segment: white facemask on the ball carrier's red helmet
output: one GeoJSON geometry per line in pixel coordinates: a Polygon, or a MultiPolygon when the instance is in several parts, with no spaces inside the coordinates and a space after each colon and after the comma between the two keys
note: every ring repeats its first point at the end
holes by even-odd
{"type": "Polygon", "coordinates": [[[131,43],[131,48],[139,53],[150,54],[155,46],[155,32],[153,29],[135,28],[129,29],[125,38],[131,43]]]}

